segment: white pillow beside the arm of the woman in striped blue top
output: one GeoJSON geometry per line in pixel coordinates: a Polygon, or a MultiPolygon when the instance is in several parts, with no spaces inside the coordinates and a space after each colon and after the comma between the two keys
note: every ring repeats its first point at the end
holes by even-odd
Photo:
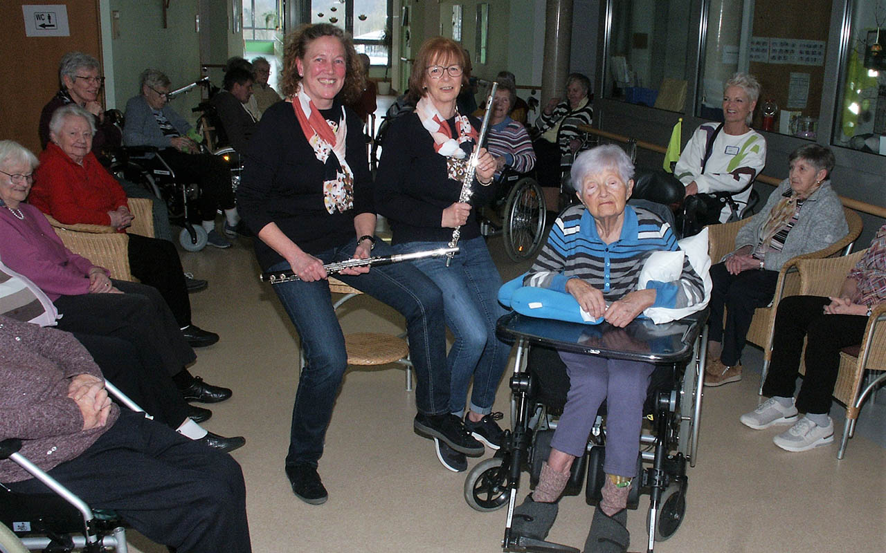
{"type": "Polygon", "coordinates": [[[671,282],[680,278],[683,270],[683,255],[689,259],[689,265],[702,277],[704,287],[704,299],[701,303],[670,309],[666,307],[649,307],[643,314],[652,319],[656,324],[666,323],[676,319],[682,319],[687,315],[702,311],[711,301],[711,257],[708,256],[708,229],[688,236],[677,242],[681,251],[657,251],[646,260],[640,272],[639,288],[645,289],[649,280],[671,282]],[[680,265],[676,265],[679,260],[680,265]],[[675,268],[676,267],[676,268],[675,268]]]}

